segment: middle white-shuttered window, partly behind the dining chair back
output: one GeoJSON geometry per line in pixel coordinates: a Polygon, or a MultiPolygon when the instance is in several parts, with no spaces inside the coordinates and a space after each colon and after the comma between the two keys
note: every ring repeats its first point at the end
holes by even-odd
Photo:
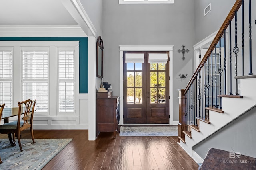
{"type": "Polygon", "coordinates": [[[48,111],[48,47],[21,47],[22,99],[36,99],[36,111],[48,111]]]}

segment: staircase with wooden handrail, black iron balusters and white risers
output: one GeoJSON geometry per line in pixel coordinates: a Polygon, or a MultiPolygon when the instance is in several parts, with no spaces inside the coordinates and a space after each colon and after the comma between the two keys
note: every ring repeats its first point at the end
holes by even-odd
{"type": "Polygon", "coordinates": [[[235,2],[190,82],[178,90],[178,143],[198,163],[203,158],[193,146],[256,105],[251,3],[235,2]]]}

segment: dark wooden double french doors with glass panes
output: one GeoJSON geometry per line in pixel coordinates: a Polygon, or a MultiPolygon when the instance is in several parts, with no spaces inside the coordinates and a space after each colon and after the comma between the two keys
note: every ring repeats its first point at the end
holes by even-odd
{"type": "Polygon", "coordinates": [[[124,51],[124,124],[169,124],[169,52],[124,51]]]}

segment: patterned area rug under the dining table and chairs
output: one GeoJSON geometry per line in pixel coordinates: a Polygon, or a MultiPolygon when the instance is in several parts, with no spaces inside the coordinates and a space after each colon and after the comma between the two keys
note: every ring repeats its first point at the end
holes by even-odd
{"type": "Polygon", "coordinates": [[[23,152],[18,140],[10,146],[8,139],[1,139],[0,156],[3,161],[1,170],[40,170],[56,156],[72,139],[21,139],[23,152]]]}

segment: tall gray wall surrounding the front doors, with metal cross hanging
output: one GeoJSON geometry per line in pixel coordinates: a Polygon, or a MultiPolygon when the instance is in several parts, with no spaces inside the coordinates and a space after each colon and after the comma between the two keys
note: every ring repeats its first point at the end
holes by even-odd
{"type": "MultiPolygon", "coordinates": [[[[185,88],[194,65],[194,0],[174,4],[118,4],[103,0],[104,81],[120,94],[119,45],[174,45],[173,119],[178,121],[178,88],[185,88]],[[189,49],[186,59],[177,50],[189,49]],[[180,80],[178,74],[188,74],[180,80]]],[[[172,109],[172,108],[170,108],[172,109]]]]}

